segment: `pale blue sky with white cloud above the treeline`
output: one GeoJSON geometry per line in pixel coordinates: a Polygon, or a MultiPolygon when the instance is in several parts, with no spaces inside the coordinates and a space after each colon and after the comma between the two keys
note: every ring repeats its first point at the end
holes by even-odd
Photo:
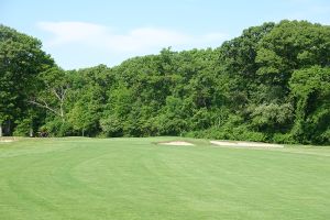
{"type": "Polygon", "coordinates": [[[0,23],[33,35],[65,69],[217,47],[283,19],[330,24],[329,0],[0,0],[0,23]]]}

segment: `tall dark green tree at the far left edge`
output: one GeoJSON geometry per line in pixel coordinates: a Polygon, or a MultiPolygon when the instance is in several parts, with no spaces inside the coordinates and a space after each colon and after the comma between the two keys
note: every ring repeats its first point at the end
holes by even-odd
{"type": "Polygon", "coordinates": [[[54,65],[41,47],[38,40],[0,24],[0,131],[6,125],[7,134],[29,108],[35,77],[54,65]]]}

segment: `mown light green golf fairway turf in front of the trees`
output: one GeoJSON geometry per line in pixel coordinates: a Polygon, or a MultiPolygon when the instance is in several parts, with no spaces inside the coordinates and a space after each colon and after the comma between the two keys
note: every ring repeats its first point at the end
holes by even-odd
{"type": "Polygon", "coordinates": [[[0,219],[330,218],[330,147],[154,144],[173,139],[0,143],[0,219]]]}

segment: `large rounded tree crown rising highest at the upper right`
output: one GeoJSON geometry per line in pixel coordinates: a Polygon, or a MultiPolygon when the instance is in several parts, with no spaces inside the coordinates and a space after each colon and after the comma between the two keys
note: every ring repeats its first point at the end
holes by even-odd
{"type": "Polygon", "coordinates": [[[255,62],[265,82],[287,88],[295,69],[330,64],[330,28],[282,21],[261,40],[255,62]]]}

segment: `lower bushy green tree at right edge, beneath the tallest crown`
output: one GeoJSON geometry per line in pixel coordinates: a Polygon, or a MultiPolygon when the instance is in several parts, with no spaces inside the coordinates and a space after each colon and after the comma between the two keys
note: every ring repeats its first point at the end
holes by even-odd
{"type": "Polygon", "coordinates": [[[330,143],[330,68],[312,66],[294,72],[292,95],[296,99],[293,134],[302,143],[330,143]]]}

